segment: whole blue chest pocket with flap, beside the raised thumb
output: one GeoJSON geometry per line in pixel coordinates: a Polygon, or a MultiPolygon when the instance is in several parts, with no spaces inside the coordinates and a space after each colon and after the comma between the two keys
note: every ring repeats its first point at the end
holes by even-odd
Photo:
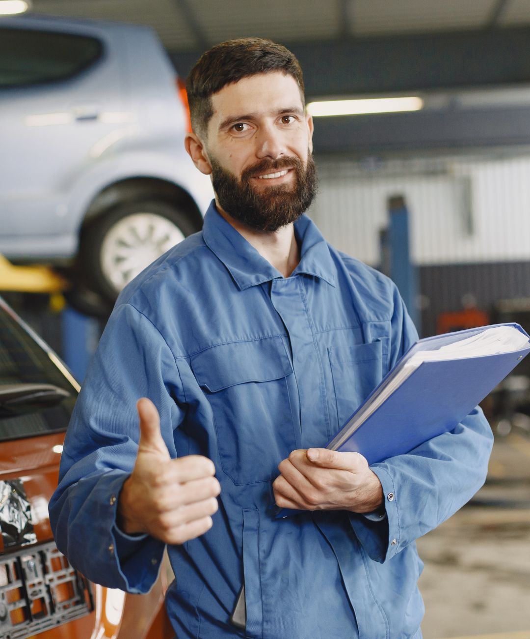
{"type": "Polygon", "coordinates": [[[269,481],[296,448],[282,337],[212,346],[191,359],[217,432],[219,458],[235,484],[269,481]]]}

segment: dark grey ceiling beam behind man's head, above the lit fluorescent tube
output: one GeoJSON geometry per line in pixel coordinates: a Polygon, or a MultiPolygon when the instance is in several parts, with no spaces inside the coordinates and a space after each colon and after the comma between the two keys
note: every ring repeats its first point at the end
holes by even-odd
{"type": "MultiPolygon", "coordinates": [[[[286,45],[309,99],[530,83],[530,27],[286,45]]],[[[181,75],[203,50],[172,52],[181,75]]]]}

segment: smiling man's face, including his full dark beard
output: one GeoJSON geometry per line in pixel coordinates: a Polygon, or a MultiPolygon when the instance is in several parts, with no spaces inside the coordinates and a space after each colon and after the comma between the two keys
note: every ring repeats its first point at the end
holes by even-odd
{"type": "Polygon", "coordinates": [[[207,155],[217,204],[258,231],[297,219],[316,192],[311,137],[291,75],[260,73],[212,96],[207,155]]]}

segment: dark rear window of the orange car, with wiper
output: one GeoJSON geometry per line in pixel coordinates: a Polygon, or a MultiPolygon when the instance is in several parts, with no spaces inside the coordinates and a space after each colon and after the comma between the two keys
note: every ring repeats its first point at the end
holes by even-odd
{"type": "Polygon", "coordinates": [[[0,304],[0,390],[27,384],[66,390],[66,396],[51,406],[24,406],[19,402],[12,413],[0,410],[0,442],[66,430],[77,389],[55,364],[56,359],[0,304]]]}

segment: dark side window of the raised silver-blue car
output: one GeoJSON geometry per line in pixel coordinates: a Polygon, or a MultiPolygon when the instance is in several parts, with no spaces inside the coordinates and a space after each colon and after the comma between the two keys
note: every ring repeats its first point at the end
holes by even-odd
{"type": "Polygon", "coordinates": [[[103,52],[97,38],[34,29],[0,28],[0,88],[71,78],[103,52]]]}

